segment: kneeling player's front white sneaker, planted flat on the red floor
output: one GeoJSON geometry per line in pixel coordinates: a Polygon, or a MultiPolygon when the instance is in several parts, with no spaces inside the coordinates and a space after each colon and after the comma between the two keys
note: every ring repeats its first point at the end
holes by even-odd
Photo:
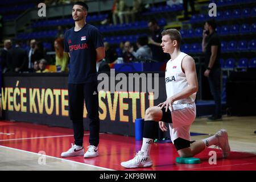
{"type": "Polygon", "coordinates": [[[125,168],[138,168],[138,167],[150,167],[152,166],[152,160],[150,156],[144,155],[144,152],[139,151],[136,156],[126,162],[122,162],[121,166],[125,168]]]}

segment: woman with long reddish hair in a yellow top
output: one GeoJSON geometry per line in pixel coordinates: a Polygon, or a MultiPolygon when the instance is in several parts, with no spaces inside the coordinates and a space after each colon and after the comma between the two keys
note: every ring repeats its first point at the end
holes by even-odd
{"type": "Polygon", "coordinates": [[[54,48],[56,52],[56,72],[68,72],[69,56],[67,52],[64,52],[64,38],[57,38],[54,42],[54,48]]]}

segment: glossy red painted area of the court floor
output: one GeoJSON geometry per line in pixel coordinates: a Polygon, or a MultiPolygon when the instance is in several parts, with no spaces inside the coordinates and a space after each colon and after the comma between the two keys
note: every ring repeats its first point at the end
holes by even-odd
{"type": "MultiPolygon", "coordinates": [[[[5,122],[10,123],[10,122],[5,122]]],[[[45,151],[46,155],[61,158],[60,154],[68,150],[73,143],[72,129],[61,127],[48,127],[45,125],[34,125],[31,123],[15,122],[14,125],[0,126],[2,133],[15,133],[15,135],[0,135],[0,140],[15,138],[38,139],[26,140],[5,140],[0,141],[0,145],[26,150],[30,152],[45,151]],[[45,138],[48,136],[71,135],[70,137],[45,138]]],[[[88,134],[88,132],[86,132],[88,134]]],[[[89,136],[84,136],[84,146],[88,145],[89,136]]],[[[134,137],[122,135],[102,134],[100,135],[99,152],[100,156],[92,159],[80,157],[65,158],[75,162],[91,164],[115,170],[131,170],[120,166],[120,163],[134,157],[135,151],[141,147],[142,141],[135,141],[134,137]]],[[[154,165],[150,168],[138,168],[132,170],[161,170],[161,171],[180,171],[180,170],[256,170],[256,155],[247,152],[231,152],[229,159],[222,159],[221,151],[213,148],[201,152],[198,157],[200,164],[177,164],[175,158],[177,152],[172,143],[154,143],[151,147],[151,158],[154,165]],[[217,164],[210,165],[208,162],[209,151],[217,152],[217,164]]]]}

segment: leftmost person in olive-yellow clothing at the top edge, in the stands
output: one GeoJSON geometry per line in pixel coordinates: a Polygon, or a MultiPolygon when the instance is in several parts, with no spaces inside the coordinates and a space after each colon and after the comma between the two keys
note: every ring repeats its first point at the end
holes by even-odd
{"type": "Polygon", "coordinates": [[[113,11],[113,23],[117,24],[117,16],[119,18],[120,24],[123,24],[123,18],[125,18],[125,23],[129,23],[129,7],[123,0],[115,0],[115,9],[113,11]]]}

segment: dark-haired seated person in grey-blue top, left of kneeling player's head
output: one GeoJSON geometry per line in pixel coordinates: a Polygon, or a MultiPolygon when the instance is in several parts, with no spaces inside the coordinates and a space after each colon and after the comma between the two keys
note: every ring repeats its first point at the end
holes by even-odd
{"type": "Polygon", "coordinates": [[[130,52],[137,59],[152,59],[152,51],[150,47],[147,46],[147,38],[139,37],[137,39],[138,50],[134,52],[133,47],[130,48],[130,52]]]}

